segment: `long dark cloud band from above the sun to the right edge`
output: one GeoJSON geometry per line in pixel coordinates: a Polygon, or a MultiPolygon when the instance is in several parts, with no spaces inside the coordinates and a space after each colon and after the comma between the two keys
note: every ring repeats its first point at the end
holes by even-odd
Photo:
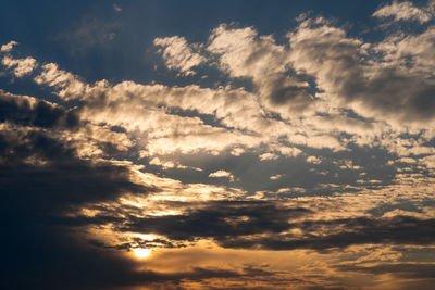
{"type": "Polygon", "coordinates": [[[435,219],[395,216],[310,220],[312,214],[277,201],[211,202],[183,215],[132,216],[120,229],[174,240],[213,238],[224,248],[320,252],[366,243],[427,245],[435,240],[435,219]],[[300,234],[288,234],[291,229],[300,234]]]}

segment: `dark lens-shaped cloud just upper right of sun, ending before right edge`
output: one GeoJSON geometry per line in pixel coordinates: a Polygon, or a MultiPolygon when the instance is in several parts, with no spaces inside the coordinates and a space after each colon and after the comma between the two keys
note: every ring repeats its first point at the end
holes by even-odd
{"type": "Polygon", "coordinates": [[[281,232],[288,228],[288,219],[310,213],[303,207],[285,207],[273,202],[222,201],[210,202],[184,215],[130,217],[122,229],[160,234],[175,240],[203,237],[226,240],[227,237],[281,232]]]}

